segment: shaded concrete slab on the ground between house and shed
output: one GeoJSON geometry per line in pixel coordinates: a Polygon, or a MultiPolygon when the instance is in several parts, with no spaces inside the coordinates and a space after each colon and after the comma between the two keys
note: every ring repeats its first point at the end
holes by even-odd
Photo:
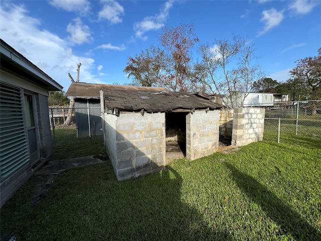
{"type": "Polygon", "coordinates": [[[39,168],[35,174],[52,174],[63,172],[67,169],[74,167],[83,167],[90,164],[97,164],[106,162],[108,160],[108,156],[87,156],[87,157],[76,157],[66,160],[59,161],[50,161],[48,163],[44,163],[44,165],[39,168]]]}

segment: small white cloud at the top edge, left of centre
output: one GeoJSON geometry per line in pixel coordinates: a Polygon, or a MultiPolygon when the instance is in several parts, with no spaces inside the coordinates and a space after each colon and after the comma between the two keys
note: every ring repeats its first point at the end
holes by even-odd
{"type": "Polygon", "coordinates": [[[124,15],[124,8],[116,1],[101,1],[104,6],[99,12],[99,20],[107,19],[111,24],[118,24],[122,22],[120,16],[124,15]]]}

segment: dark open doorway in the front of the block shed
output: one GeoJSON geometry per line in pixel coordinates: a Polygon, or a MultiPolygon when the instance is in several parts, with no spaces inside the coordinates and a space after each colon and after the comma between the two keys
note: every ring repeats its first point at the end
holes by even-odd
{"type": "Polygon", "coordinates": [[[188,112],[167,112],[166,122],[166,159],[186,157],[186,116],[188,112]]]}

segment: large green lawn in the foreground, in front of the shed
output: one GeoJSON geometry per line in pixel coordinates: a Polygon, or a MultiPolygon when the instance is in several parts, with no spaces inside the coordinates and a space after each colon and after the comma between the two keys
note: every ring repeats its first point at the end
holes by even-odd
{"type": "Polygon", "coordinates": [[[321,240],[321,139],[263,142],[117,182],[111,164],[33,176],[1,209],[19,240],[321,240]]]}

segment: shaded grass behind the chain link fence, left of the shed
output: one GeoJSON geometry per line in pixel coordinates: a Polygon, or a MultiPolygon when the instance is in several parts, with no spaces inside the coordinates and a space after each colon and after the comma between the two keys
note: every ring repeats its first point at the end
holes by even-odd
{"type": "MultiPolygon", "coordinates": [[[[54,139],[53,133],[51,135],[52,139],[54,139]]],[[[102,136],[77,138],[76,128],[56,129],[55,140],[56,147],[53,148],[53,153],[49,160],[64,160],[106,154],[102,136]]]]}

